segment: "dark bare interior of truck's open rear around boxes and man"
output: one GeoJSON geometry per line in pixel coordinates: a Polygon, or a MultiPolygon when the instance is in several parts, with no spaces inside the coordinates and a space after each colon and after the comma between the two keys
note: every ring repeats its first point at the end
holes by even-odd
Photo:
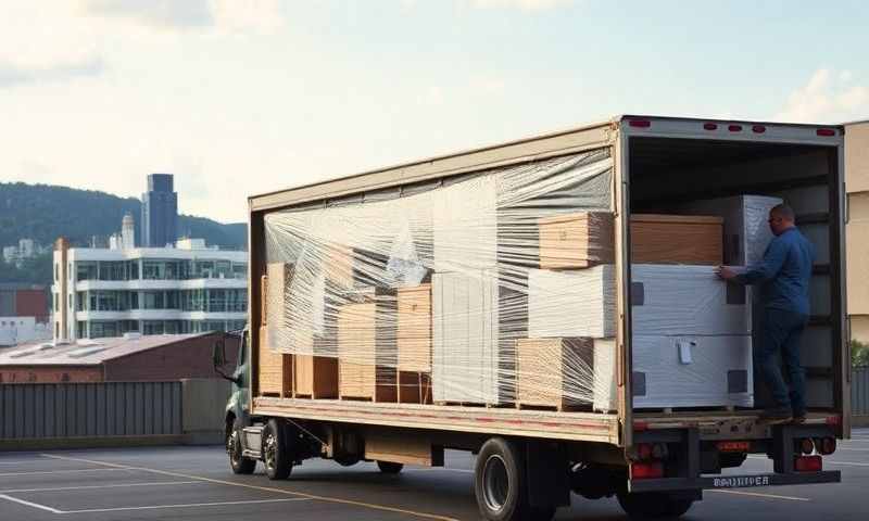
{"type": "MultiPolygon", "coordinates": [[[[632,214],[691,215],[708,209],[702,204],[697,209],[697,201],[742,195],[766,196],[773,203],[781,200],[793,207],[799,230],[816,252],[810,283],[811,319],[801,351],[806,368],[807,405],[813,421],[841,417],[847,350],[842,331],[841,158],[836,149],[815,144],[632,137],[628,150],[632,214]]],[[[758,208],[751,217],[754,221],[747,226],[767,229],[766,208],[758,208]]],[[[741,253],[740,244],[732,239],[728,234],[723,238],[722,260],[739,265],[744,257],[736,258],[741,253]]],[[[637,309],[635,304],[631,308],[637,309]]],[[[758,323],[754,326],[759,327],[758,323]]],[[[634,329],[634,334],[637,332],[634,329]]],[[[753,340],[757,342],[756,334],[753,340]]],[[[637,395],[635,390],[633,394],[637,395]]],[[[755,381],[755,408],[769,405],[769,398],[768,390],[755,381]]],[[[637,412],[637,418],[644,420],[660,416],[637,412]]],[[[708,417],[710,411],[706,412],[708,417]]],[[[745,416],[745,412],[732,411],[731,416],[745,416]]],[[[672,418],[691,415],[689,410],[672,418]]]]}

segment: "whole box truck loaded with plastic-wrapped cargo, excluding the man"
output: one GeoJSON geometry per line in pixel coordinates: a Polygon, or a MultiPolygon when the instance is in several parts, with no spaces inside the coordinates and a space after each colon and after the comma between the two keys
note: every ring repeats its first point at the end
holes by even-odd
{"type": "Polygon", "coordinates": [[[489,520],[551,519],[570,492],[654,518],[708,488],[839,482],[844,132],[622,115],[249,198],[231,470],[468,450],[489,520]],[[759,291],[715,276],[763,257],[779,203],[815,246],[809,412],[788,423],[760,416],[759,291]],[[728,470],[753,454],[773,472],[728,470]]]}

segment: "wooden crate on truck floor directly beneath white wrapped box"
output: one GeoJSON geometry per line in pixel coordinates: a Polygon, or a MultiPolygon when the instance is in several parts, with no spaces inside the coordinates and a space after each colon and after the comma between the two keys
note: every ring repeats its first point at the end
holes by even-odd
{"type": "Polygon", "coordinates": [[[594,342],[591,339],[517,340],[516,405],[557,410],[590,405],[593,365],[594,342]]]}

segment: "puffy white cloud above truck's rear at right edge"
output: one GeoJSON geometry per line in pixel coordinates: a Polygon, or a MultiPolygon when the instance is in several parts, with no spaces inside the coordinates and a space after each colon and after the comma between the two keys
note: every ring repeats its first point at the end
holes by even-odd
{"type": "Polygon", "coordinates": [[[788,97],[776,120],[793,123],[841,123],[869,115],[869,86],[855,85],[849,71],[835,74],[815,71],[806,85],[788,97]]]}

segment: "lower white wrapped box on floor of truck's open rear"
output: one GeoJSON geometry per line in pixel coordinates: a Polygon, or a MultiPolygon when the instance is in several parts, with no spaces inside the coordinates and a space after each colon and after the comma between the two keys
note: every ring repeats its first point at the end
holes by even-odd
{"type": "Polygon", "coordinates": [[[752,338],[633,336],[634,408],[753,407],[752,338]]]}

